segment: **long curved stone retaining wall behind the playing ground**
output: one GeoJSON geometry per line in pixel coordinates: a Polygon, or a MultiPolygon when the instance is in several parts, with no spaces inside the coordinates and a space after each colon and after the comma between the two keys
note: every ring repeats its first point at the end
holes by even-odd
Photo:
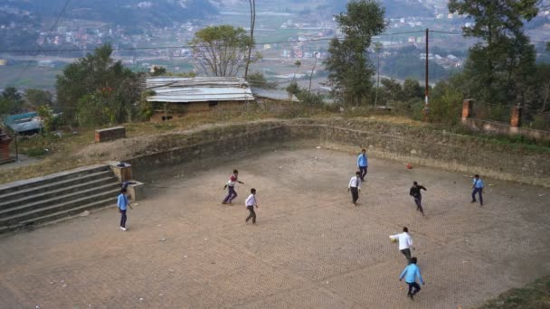
{"type": "Polygon", "coordinates": [[[218,160],[290,141],[352,153],[364,147],[373,157],[550,187],[550,152],[435,131],[423,125],[369,119],[299,119],[214,126],[163,136],[158,145],[163,151],[133,158],[128,163],[147,173],[155,166],[218,160]]]}

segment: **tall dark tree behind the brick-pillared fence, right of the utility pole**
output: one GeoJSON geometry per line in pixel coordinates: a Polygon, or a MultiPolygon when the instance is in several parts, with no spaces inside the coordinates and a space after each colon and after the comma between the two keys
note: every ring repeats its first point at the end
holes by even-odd
{"type": "Polygon", "coordinates": [[[463,28],[464,36],[483,41],[469,49],[465,67],[478,99],[509,103],[524,97],[522,82],[534,68],[535,49],[523,25],[538,14],[537,5],[539,0],[450,0],[450,13],[475,22],[463,28]]]}

